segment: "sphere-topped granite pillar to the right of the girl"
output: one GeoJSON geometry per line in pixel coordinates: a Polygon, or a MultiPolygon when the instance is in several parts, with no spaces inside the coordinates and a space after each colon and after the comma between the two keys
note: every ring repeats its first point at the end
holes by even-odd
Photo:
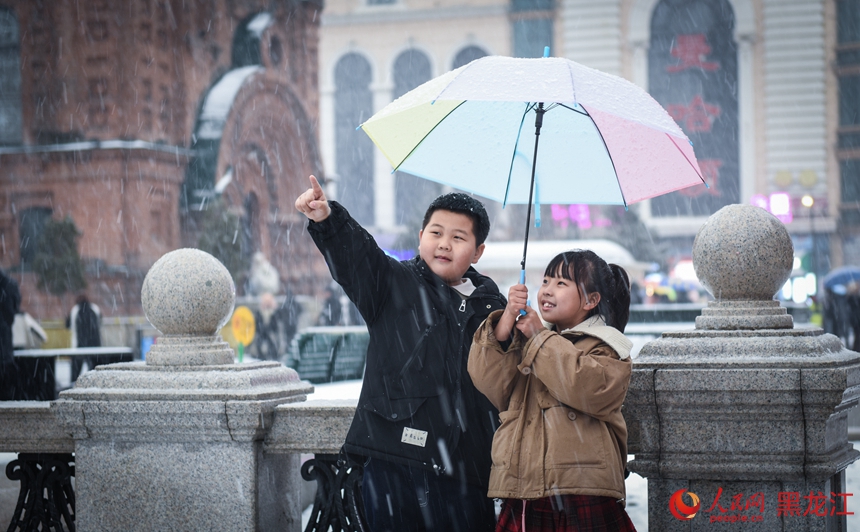
{"type": "Polygon", "coordinates": [[[724,207],[699,230],[693,262],[716,300],[695,330],[642,348],[625,404],[649,530],[835,532],[839,514],[860,511],[839,495],[860,454],[846,428],[860,354],[794,327],[773,299],[793,257],[785,226],[758,207],[724,207]]]}

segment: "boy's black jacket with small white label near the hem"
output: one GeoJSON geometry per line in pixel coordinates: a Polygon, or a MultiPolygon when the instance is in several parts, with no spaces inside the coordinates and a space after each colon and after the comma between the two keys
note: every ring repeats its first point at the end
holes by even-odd
{"type": "Polygon", "coordinates": [[[343,206],[330,205],[331,215],[308,231],[370,332],[346,451],[486,486],[498,411],[475,389],[466,362],[475,330],[505,298],[469,268],[476,289],[464,304],[420,258],[389,257],[343,206]],[[424,446],[402,443],[404,427],[426,431],[424,446]]]}

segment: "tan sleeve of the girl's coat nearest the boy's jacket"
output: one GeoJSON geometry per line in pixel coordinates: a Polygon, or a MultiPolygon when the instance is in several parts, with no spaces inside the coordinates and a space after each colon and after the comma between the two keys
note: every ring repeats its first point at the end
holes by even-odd
{"type": "Polygon", "coordinates": [[[522,358],[523,338],[516,331],[510,347],[505,351],[493,333],[503,310],[490,314],[475,331],[469,351],[469,376],[475,387],[487,396],[499,411],[508,409],[508,402],[519,375],[517,364],[522,358]]]}

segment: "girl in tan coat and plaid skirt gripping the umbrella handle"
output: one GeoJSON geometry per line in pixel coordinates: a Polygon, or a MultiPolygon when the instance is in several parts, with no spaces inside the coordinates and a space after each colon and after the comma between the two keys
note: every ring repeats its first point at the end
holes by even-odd
{"type": "Polygon", "coordinates": [[[524,285],[489,315],[469,375],[499,409],[490,497],[497,532],[635,531],[624,510],[627,426],[621,405],[632,343],[627,273],[592,251],[556,256],[537,312],[524,285]],[[520,311],[525,314],[521,315],[520,311]]]}

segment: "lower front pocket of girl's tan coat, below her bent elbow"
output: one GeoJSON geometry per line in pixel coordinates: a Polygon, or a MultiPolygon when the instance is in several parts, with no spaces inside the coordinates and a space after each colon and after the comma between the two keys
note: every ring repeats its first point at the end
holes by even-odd
{"type": "Polygon", "coordinates": [[[606,467],[610,445],[606,425],[593,417],[556,406],[544,410],[546,467],[606,467]]]}

